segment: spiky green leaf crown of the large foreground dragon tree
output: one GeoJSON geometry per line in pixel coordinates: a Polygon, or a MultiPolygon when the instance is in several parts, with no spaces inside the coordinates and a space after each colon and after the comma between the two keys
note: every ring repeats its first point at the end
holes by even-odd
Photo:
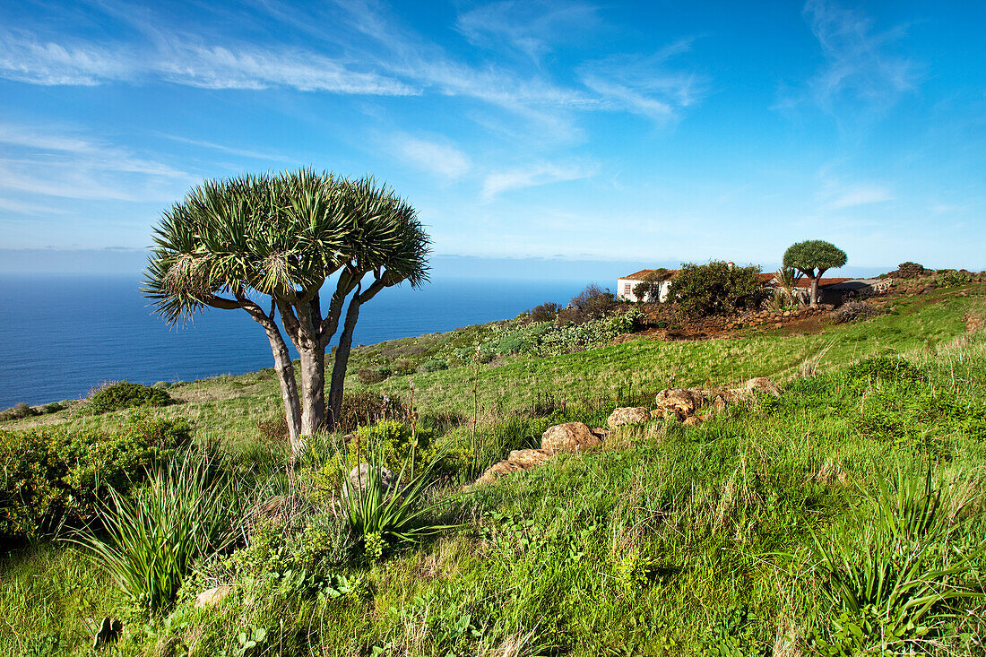
{"type": "Polygon", "coordinates": [[[164,213],[154,243],[143,291],[175,324],[253,292],[311,298],[336,272],[416,287],[430,240],[386,185],[302,169],[197,185],[164,213]]]}

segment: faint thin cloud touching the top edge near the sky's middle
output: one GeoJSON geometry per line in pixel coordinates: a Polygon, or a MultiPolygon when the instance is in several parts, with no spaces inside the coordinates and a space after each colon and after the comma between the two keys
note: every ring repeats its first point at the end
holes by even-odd
{"type": "Polygon", "coordinates": [[[584,40],[600,22],[599,9],[585,2],[502,0],[460,14],[456,27],[476,45],[507,45],[538,60],[559,44],[584,40]]]}

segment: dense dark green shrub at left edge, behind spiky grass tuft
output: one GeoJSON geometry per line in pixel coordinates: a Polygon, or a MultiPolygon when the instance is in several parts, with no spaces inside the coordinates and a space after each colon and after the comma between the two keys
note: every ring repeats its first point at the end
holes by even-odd
{"type": "Polygon", "coordinates": [[[93,515],[191,440],[184,420],[131,415],[112,432],[64,426],[0,431],[0,535],[33,538],[93,515]]]}

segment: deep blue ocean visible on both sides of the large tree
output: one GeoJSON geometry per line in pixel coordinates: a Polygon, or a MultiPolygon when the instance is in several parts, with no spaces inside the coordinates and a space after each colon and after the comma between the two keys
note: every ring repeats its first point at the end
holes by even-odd
{"type": "MultiPolygon", "coordinates": [[[[353,343],[513,318],[565,303],[587,282],[447,278],[389,288],[361,308],[353,343]]],[[[193,381],[273,365],[246,312],[208,309],[173,328],[139,287],[135,276],[0,276],[0,409],[82,398],[106,381],[193,381]]]]}

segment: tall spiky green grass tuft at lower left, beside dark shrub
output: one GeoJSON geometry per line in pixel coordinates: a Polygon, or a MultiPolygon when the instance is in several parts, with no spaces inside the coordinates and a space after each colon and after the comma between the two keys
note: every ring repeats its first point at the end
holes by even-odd
{"type": "Polygon", "coordinates": [[[220,469],[218,457],[189,450],[152,471],[126,496],[108,489],[102,528],[74,543],[85,547],[116,584],[152,615],[174,602],[194,560],[230,547],[245,497],[241,481],[220,469]]]}

